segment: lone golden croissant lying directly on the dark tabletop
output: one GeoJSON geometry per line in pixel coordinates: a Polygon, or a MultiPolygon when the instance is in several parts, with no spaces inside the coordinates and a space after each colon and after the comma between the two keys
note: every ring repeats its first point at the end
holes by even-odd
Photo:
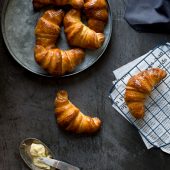
{"type": "Polygon", "coordinates": [[[84,115],[68,100],[66,91],[59,91],[55,99],[55,113],[58,124],[74,133],[94,133],[99,130],[101,121],[84,115]]]}

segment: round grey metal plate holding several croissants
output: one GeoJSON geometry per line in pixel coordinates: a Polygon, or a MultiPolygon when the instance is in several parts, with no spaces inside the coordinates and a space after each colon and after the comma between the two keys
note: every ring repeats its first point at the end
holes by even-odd
{"type": "MultiPolygon", "coordinates": [[[[109,2],[108,7],[109,19],[104,31],[106,39],[103,46],[97,50],[86,50],[83,63],[73,72],[63,77],[80,73],[92,66],[106,50],[112,33],[112,12],[109,2]]],[[[5,44],[10,54],[19,64],[35,74],[52,77],[34,60],[34,29],[43,12],[43,10],[33,10],[32,0],[5,0],[1,16],[1,27],[5,44]]],[[[61,49],[70,48],[67,44],[63,27],[57,47],[61,49]]]]}

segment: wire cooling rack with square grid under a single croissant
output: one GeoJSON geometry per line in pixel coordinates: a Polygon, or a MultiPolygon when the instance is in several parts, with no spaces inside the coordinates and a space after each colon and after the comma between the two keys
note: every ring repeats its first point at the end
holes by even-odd
{"type": "Polygon", "coordinates": [[[117,80],[111,90],[113,105],[129,120],[155,147],[170,144],[170,45],[156,47],[125,76],[117,80]],[[145,102],[145,116],[135,119],[124,101],[127,81],[134,74],[149,68],[166,70],[167,77],[157,85],[145,102]],[[112,95],[114,94],[114,95],[112,95]]]}

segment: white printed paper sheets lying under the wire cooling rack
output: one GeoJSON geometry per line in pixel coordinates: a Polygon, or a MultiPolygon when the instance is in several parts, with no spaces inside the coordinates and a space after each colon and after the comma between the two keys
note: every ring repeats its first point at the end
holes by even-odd
{"type": "Polygon", "coordinates": [[[170,95],[170,89],[165,86],[165,83],[170,83],[170,44],[158,46],[157,48],[149,51],[147,54],[137,58],[136,60],[118,68],[113,71],[117,80],[113,81],[113,89],[111,90],[110,98],[113,101],[113,107],[130,123],[132,123],[139,133],[148,149],[156,146],[162,151],[170,154],[170,123],[169,119],[169,103],[166,103],[160,94],[153,92],[154,102],[149,100],[146,102],[146,107],[150,107],[152,111],[147,113],[144,120],[135,120],[129,115],[128,110],[124,107],[124,100],[118,91],[125,88],[123,81],[127,81],[129,73],[137,73],[138,69],[147,69],[148,67],[163,67],[168,72],[165,82],[161,83],[157,89],[162,92],[161,95],[166,97],[170,95]],[[138,68],[138,69],[136,69],[138,68]],[[156,102],[161,102],[162,109],[159,110],[156,102]],[[122,107],[123,106],[123,107],[122,107]],[[158,111],[159,110],[159,111],[158,111]]]}

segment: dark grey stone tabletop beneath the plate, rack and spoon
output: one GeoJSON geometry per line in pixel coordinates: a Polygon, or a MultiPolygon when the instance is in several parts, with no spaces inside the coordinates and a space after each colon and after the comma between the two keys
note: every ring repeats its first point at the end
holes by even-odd
{"type": "MultiPolygon", "coordinates": [[[[0,9],[4,0],[0,0],[0,9]]],[[[103,57],[90,69],[64,79],[33,75],[17,64],[0,34],[0,170],[27,170],[18,152],[26,137],[45,142],[56,158],[83,170],[168,170],[169,155],[147,150],[137,131],[111,106],[108,98],[112,71],[146,53],[170,35],[143,34],[123,20],[125,2],[112,0],[113,36],[103,57]],[[65,89],[87,114],[101,118],[95,136],[76,136],[58,128],[55,93],[65,89]]]]}

